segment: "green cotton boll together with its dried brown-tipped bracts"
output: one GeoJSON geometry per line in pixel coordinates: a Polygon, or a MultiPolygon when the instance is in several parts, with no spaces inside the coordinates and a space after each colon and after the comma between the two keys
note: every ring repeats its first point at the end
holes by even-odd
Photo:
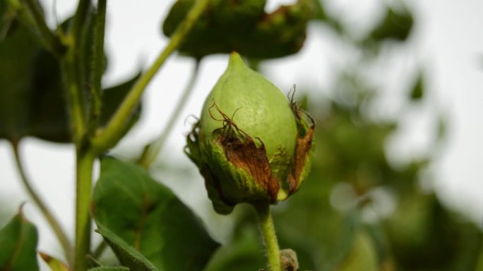
{"type": "Polygon", "coordinates": [[[217,213],[237,203],[276,203],[310,168],[314,120],[232,53],[208,95],[186,153],[205,178],[217,213]]]}

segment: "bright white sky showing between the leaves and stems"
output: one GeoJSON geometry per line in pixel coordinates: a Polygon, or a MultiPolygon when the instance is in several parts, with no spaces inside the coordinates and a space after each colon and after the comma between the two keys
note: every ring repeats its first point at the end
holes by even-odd
{"type": "MultiPolygon", "coordinates": [[[[52,15],[52,0],[42,2],[47,14],[52,15]]],[[[74,2],[57,1],[59,20],[73,12],[74,2]]],[[[149,65],[165,46],[167,39],[161,34],[160,24],[173,2],[108,1],[106,46],[109,69],[104,80],[106,86],[120,82],[149,65]]],[[[269,1],[269,4],[273,9],[280,3],[290,2],[269,1]]],[[[327,2],[330,2],[328,8],[331,12],[338,14],[338,18],[345,18],[347,25],[359,27],[354,29],[360,31],[375,23],[380,12],[374,8],[378,0],[327,2]]],[[[411,37],[411,48],[402,56],[399,56],[398,48],[388,49],[384,52],[388,58],[399,53],[396,60],[381,60],[375,68],[379,71],[378,76],[387,79],[382,85],[387,90],[383,99],[385,106],[381,106],[378,114],[404,117],[399,134],[388,142],[388,157],[395,163],[403,163],[424,153],[421,150],[429,145],[434,129],[433,112],[436,109],[441,111],[448,119],[449,129],[448,139],[431,167],[435,175],[434,187],[446,203],[480,221],[483,218],[483,1],[412,0],[407,3],[415,11],[417,26],[411,37]],[[405,95],[407,86],[400,85],[400,82],[408,75],[414,75],[419,64],[427,70],[427,100],[410,108],[410,111],[403,111],[398,101],[405,95]]],[[[53,25],[54,20],[49,23],[53,25]]],[[[301,53],[268,61],[263,64],[263,70],[285,92],[294,83],[299,89],[330,89],[334,67],[347,65],[345,54],[348,52],[339,45],[329,31],[311,25],[309,39],[301,53]]],[[[141,151],[143,144],[159,134],[174,109],[193,64],[189,58],[169,58],[147,89],[143,99],[143,118],[121,141],[118,153],[126,155],[129,151],[141,151]]],[[[161,153],[172,165],[185,163],[194,169],[182,153],[184,134],[190,128],[184,124],[184,119],[187,115],[199,115],[204,97],[226,65],[227,56],[210,56],[203,61],[194,94],[161,153]]],[[[73,147],[25,139],[21,151],[35,188],[72,234],[73,147]]],[[[11,203],[9,207],[14,212],[21,202],[28,201],[28,196],[20,185],[6,141],[0,141],[0,167],[0,197],[3,197],[2,202],[7,199],[11,203]]],[[[198,175],[193,174],[193,178],[177,183],[169,182],[169,176],[162,180],[198,213],[210,211],[203,181],[198,175]],[[181,188],[186,188],[186,184],[191,190],[181,194],[181,188]]],[[[61,256],[56,239],[35,206],[29,203],[24,209],[27,217],[40,227],[40,250],[61,256]]],[[[210,227],[220,227],[223,219],[217,222],[210,222],[210,227]]],[[[218,238],[222,238],[222,234],[218,238]]]]}

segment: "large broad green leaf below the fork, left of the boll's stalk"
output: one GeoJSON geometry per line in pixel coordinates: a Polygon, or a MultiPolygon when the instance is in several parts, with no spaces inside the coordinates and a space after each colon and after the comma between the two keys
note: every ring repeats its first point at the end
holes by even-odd
{"type": "Polygon", "coordinates": [[[160,270],[201,270],[218,246],[172,191],[138,166],[111,157],[101,161],[93,216],[160,270]]]}

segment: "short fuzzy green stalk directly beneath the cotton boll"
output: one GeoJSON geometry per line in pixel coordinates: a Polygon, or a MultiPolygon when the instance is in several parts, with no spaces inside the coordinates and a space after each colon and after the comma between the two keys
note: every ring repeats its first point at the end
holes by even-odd
{"type": "Polygon", "coordinates": [[[269,270],[282,271],[280,248],[278,247],[277,235],[275,234],[275,227],[273,227],[272,215],[270,214],[270,203],[261,202],[254,204],[254,207],[258,215],[263,244],[265,244],[267,251],[269,270]]]}

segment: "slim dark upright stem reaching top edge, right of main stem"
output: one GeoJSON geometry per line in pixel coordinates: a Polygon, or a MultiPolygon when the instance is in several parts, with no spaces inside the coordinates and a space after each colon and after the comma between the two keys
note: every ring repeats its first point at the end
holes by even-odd
{"type": "Polygon", "coordinates": [[[93,85],[90,88],[91,105],[90,105],[90,124],[89,133],[95,131],[99,123],[102,99],[102,74],[104,73],[104,36],[106,21],[106,2],[107,0],[97,1],[97,13],[95,15],[95,32],[94,32],[94,52],[92,78],[93,85]]]}

